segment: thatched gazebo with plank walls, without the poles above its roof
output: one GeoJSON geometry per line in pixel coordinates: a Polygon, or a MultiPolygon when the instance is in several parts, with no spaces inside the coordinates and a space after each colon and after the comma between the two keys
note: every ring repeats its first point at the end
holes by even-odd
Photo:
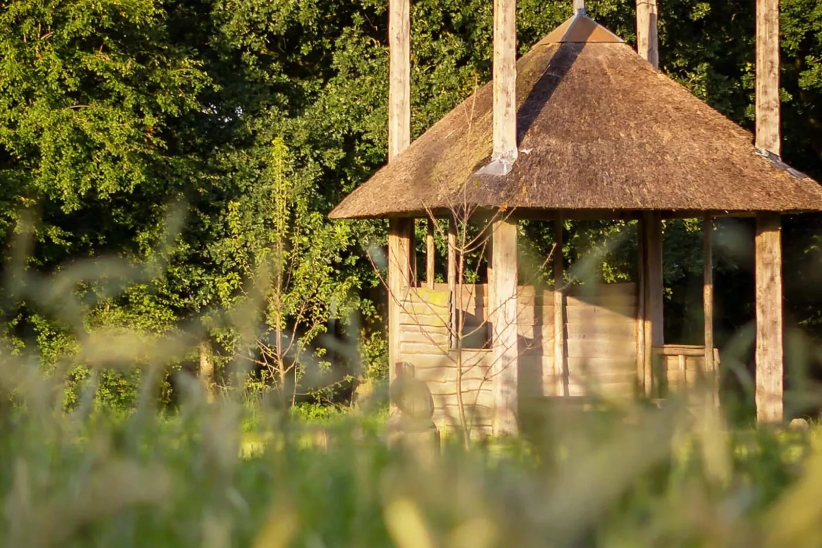
{"type": "Polygon", "coordinates": [[[475,429],[511,432],[522,395],[661,397],[710,377],[718,361],[711,222],[756,216],[757,406],[760,418],[781,420],[780,215],[822,211],[820,185],[756,147],[750,132],[658,72],[584,10],[516,61],[515,148],[506,154],[495,134],[505,123],[495,101],[504,95],[500,74],[495,67],[495,81],[330,213],[390,219],[392,379],[400,364],[413,366],[432,392],[438,426],[452,424],[461,407],[475,429]],[[456,207],[494,219],[487,285],[456,279],[456,207]],[[421,217],[451,220],[446,284],[434,283],[432,243],[425,283],[413,275],[413,220],[421,217]],[[668,218],[704,220],[704,346],[663,341],[668,218]],[[638,281],[565,286],[555,262],[553,290],[520,285],[519,219],[555,221],[559,241],[564,220],[638,220],[638,281]],[[489,337],[455,345],[463,328],[455,329],[455,318],[472,328],[487,323],[489,337]]]}

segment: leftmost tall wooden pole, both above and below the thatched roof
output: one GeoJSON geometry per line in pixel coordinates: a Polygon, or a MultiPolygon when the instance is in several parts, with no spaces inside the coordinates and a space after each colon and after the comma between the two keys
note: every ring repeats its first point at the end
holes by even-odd
{"type": "MultiPolygon", "coordinates": [[[[390,0],[388,8],[388,161],[411,144],[411,22],[409,0],[390,0]]],[[[411,284],[413,219],[391,219],[388,225],[388,360],[389,383],[396,376],[399,313],[411,284]]],[[[393,406],[391,411],[394,411],[393,406]]]]}

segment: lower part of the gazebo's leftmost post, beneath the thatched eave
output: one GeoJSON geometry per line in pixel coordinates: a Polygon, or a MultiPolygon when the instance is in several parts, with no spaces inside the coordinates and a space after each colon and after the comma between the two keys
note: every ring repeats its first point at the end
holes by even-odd
{"type": "MultiPolygon", "coordinates": [[[[402,300],[411,285],[411,249],[413,219],[391,219],[388,222],[388,361],[389,384],[396,377],[400,361],[399,315],[402,300]]],[[[393,411],[394,407],[391,407],[393,411]]]]}

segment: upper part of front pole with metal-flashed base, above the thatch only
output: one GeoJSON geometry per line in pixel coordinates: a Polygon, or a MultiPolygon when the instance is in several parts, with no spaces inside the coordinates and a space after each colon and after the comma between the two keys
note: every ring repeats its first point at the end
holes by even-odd
{"type": "Polygon", "coordinates": [[[513,163],[516,144],[516,0],[494,0],[493,160],[513,163]]]}

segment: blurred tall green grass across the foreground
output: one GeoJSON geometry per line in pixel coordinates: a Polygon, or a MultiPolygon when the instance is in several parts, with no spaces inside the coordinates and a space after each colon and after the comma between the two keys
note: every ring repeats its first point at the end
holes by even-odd
{"type": "Polygon", "coordinates": [[[172,417],[145,401],[66,416],[35,369],[18,378],[2,546],[822,546],[811,431],[729,432],[712,407],[557,411],[528,439],[390,448],[380,409],[248,420],[192,384],[172,417]]]}

